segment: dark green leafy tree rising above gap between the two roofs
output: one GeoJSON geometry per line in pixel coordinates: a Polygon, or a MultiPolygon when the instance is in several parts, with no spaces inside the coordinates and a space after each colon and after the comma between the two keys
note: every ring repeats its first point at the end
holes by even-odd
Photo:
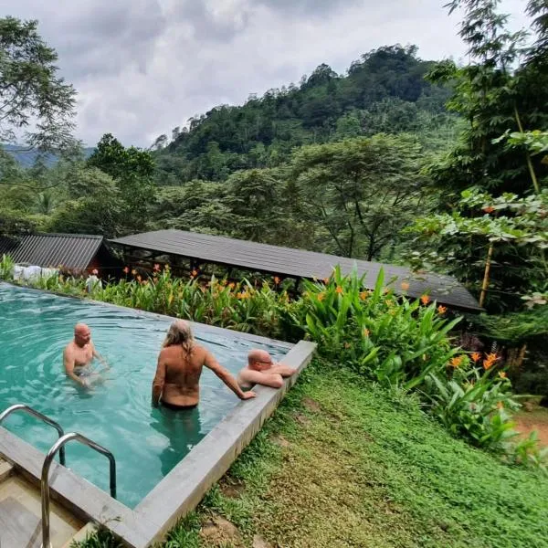
{"type": "Polygon", "coordinates": [[[124,148],[111,133],[107,133],[87,164],[109,174],[118,186],[123,202],[121,231],[141,231],[148,223],[147,214],[156,194],[152,154],[133,146],[124,148]]]}

